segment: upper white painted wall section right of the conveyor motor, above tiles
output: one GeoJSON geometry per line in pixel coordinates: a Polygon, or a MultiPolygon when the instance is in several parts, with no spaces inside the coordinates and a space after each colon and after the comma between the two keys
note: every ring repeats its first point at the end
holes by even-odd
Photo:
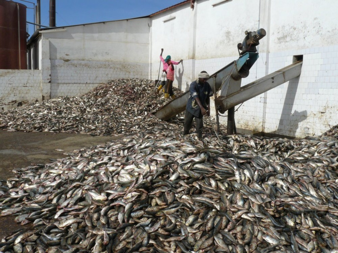
{"type": "Polygon", "coordinates": [[[272,1],[270,52],[336,44],[337,7],[335,0],[272,1]]]}

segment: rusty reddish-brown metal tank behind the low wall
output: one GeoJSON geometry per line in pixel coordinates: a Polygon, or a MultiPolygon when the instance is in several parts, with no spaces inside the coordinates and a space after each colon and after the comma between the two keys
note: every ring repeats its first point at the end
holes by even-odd
{"type": "Polygon", "coordinates": [[[26,6],[0,0],[0,69],[27,69],[26,6]]]}

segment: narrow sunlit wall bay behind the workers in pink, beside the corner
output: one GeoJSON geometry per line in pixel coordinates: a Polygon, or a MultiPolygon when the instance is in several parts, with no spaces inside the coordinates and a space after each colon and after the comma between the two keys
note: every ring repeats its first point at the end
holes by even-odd
{"type": "Polygon", "coordinates": [[[174,61],[183,59],[182,64],[175,66],[174,86],[184,90],[194,80],[195,19],[196,12],[190,8],[190,3],[152,17],[150,79],[155,80],[158,73],[162,73],[159,55],[163,48],[163,58],[171,55],[174,61]]]}

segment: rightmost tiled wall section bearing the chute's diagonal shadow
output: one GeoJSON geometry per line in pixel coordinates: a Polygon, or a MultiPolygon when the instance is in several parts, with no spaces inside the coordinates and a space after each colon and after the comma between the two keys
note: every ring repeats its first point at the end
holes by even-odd
{"type": "Polygon", "coordinates": [[[267,117],[267,132],[313,136],[338,123],[337,52],[338,46],[328,46],[272,54],[272,71],[283,65],[282,60],[285,66],[290,64],[293,55],[303,55],[303,65],[299,78],[268,92],[267,112],[272,116],[267,117]]]}

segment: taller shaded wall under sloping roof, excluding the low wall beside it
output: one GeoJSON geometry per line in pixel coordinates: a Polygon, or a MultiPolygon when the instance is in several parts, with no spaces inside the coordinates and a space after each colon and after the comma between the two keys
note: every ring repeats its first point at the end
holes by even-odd
{"type": "Polygon", "coordinates": [[[76,96],[116,78],[149,78],[149,19],[42,32],[49,43],[50,96],[76,96]]]}

